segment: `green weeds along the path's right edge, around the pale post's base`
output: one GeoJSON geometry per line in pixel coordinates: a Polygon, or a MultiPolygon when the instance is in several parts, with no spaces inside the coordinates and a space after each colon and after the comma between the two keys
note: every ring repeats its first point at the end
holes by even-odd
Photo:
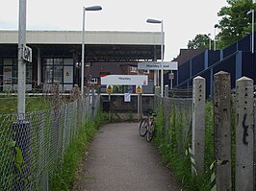
{"type": "Polygon", "coordinates": [[[212,103],[206,104],[206,149],[205,149],[205,172],[201,176],[192,175],[192,163],[189,155],[185,155],[186,146],[191,143],[191,135],[188,140],[182,140],[182,128],[186,127],[184,121],[184,110],[172,107],[170,111],[168,131],[170,140],[163,137],[163,112],[156,118],[157,136],[155,145],[162,155],[163,161],[174,172],[175,179],[189,191],[209,191],[210,188],[210,165],[214,161],[214,115],[212,103]],[[182,152],[181,152],[181,151],[182,152]],[[183,152],[184,151],[184,152],[183,152]]]}

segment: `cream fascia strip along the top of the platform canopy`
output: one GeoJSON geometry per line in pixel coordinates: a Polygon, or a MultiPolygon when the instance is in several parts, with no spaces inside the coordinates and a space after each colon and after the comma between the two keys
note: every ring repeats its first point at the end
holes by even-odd
{"type": "MultiPolygon", "coordinates": [[[[17,31],[0,30],[0,44],[17,42],[17,31]]],[[[161,32],[86,31],[85,42],[86,44],[161,45],[162,41],[161,32]]],[[[82,31],[27,31],[26,43],[81,44],[82,31]]]]}

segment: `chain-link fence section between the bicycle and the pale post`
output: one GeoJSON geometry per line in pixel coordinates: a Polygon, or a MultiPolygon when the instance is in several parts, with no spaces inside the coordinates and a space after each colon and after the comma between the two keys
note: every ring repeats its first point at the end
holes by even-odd
{"type": "Polygon", "coordinates": [[[173,97],[155,95],[155,110],[160,118],[163,118],[163,126],[160,129],[162,134],[159,135],[163,135],[172,143],[175,151],[183,153],[191,143],[192,137],[192,97],[188,97],[192,92],[186,91],[186,95],[183,96],[181,91],[172,90],[171,95],[173,97]],[[178,98],[174,96],[177,94],[178,98]]]}

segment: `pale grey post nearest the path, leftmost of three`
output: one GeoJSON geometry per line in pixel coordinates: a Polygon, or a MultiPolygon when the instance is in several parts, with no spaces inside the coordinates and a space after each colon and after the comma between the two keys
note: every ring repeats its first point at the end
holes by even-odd
{"type": "Polygon", "coordinates": [[[192,82],[192,153],[198,174],[204,172],[204,147],[205,79],[198,76],[192,82]]]}

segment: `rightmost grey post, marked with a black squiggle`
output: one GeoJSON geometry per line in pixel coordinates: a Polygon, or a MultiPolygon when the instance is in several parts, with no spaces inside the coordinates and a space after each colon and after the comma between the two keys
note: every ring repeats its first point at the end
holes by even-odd
{"type": "Polygon", "coordinates": [[[253,80],[236,83],[236,190],[253,190],[253,80]]]}

